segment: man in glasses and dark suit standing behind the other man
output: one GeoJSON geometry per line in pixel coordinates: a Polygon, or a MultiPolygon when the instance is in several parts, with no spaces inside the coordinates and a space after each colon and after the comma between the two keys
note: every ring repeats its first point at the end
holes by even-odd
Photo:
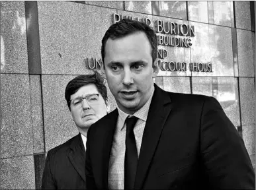
{"type": "Polygon", "coordinates": [[[87,130],[109,111],[107,88],[99,73],[79,75],[68,82],[65,100],[79,134],[48,151],[42,189],[86,189],[87,130]]]}

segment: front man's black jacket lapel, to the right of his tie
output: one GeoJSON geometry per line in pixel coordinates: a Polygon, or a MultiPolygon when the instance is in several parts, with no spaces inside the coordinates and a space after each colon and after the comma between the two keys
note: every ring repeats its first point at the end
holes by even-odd
{"type": "Polygon", "coordinates": [[[165,124],[170,111],[171,98],[169,97],[169,94],[155,85],[155,92],[149,107],[148,119],[142,138],[134,189],[142,189],[142,185],[161,136],[163,125],[165,124]]]}

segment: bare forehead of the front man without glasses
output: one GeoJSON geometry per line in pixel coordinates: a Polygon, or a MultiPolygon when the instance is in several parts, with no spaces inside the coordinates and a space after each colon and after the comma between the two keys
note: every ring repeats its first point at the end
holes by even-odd
{"type": "Polygon", "coordinates": [[[151,46],[144,32],[135,32],[122,38],[108,38],[105,46],[105,61],[112,59],[143,59],[151,57],[151,46]]]}

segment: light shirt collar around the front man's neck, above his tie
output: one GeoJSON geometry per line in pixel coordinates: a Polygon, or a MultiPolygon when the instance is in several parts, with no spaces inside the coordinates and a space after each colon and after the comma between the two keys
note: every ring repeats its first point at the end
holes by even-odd
{"type": "MultiPolygon", "coordinates": [[[[136,111],[133,114],[133,116],[138,117],[138,119],[141,119],[142,121],[147,121],[149,106],[150,106],[151,100],[153,98],[153,92],[155,92],[155,86],[153,86],[153,90],[152,90],[151,95],[149,96],[148,101],[146,102],[146,104],[144,104],[144,106],[142,106],[142,108],[140,108],[140,110],[136,111]]],[[[120,110],[120,108],[118,108],[118,106],[117,106],[117,110],[118,110],[119,119],[120,119],[120,125],[118,126],[118,128],[120,130],[122,130],[122,129],[124,129],[125,119],[128,116],[132,116],[132,115],[124,113],[124,111],[120,110]]]]}

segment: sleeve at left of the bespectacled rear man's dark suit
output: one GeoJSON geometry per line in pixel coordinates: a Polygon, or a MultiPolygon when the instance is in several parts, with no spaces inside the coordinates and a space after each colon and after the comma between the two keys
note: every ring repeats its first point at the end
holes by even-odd
{"type": "Polygon", "coordinates": [[[46,164],[44,166],[44,172],[42,176],[42,189],[57,189],[52,177],[50,158],[52,158],[52,152],[49,151],[46,157],[46,164]]]}

